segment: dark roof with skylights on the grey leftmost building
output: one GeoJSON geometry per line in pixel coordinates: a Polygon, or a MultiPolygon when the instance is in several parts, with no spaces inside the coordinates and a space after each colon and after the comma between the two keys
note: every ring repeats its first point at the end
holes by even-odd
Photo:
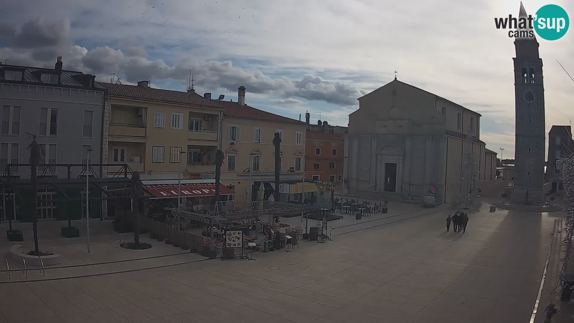
{"type": "MultiPolygon", "coordinates": [[[[39,68],[39,67],[28,67],[18,65],[0,65],[0,81],[9,83],[26,83],[26,84],[40,83],[48,86],[82,87],[83,89],[86,89],[89,84],[89,79],[92,77],[92,75],[83,74],[82,72],[78,71],[62,70],[60,83],[53,84],[53,83],[42,82],[42,80],[40,79],[42,72],[51,74],[57,73],[57,71],[53,68],[39,68]],[[4,78],[4,71],[11,69],[23,70],[22,81],[6,80],[4,78]]],[[[98,84],[98,82],[94,82],[94,86],[91,89],[104,90],[105,88],[102,85],[98,84]]]]}

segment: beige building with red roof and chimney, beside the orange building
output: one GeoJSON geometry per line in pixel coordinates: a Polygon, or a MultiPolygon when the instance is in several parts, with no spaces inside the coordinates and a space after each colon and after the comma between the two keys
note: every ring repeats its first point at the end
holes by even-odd
{"type": "MultiPolygon", "coordinates": [[[[204,97],[211,98],[211,94],[206,93],[204,97]]],[[[236,206],[246,206],[250,182],[251,201],[257,200],[261,182],[266,187],[266,197],[272,193],[275,181],[273,137],[276,132],[281,134],[281,183],[301,182],[305,165],[305,122],[246,105],[245,87],[239,87],[238,102],[219,102],[225,109],[221,180],[237,193],[236,206]]],[[[288,194],[281,196],[288,198],[288,194]]]]}

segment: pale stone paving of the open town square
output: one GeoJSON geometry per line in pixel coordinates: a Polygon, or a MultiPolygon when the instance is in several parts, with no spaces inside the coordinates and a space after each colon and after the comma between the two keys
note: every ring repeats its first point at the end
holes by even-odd
{"type": "Polygon", "coordinates": [[[0,322],[529,322],[563,214],[484,207],[459,234],[445,232],[447,212],[335,229],[333,241],[257,261],[0,283],[0,322]]]}

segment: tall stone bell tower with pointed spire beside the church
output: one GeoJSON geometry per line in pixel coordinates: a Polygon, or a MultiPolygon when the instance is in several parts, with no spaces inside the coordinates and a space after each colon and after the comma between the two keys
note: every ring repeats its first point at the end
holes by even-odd
{"type": "MultiPolygon", "coordinates": [[[[520,3],[519,17],[528,18],[520,3]]],[[[527,27],[528,28],[528,27],[527,27]]],[[[533,30],[526,30],[534,35],[533,30]]],[[[516,139],[514,145],[513,204],[542,205],[546,130],[544,122],[544,83],[542,59],[536,37],[514,41],[514,99],[516,139]]]]}

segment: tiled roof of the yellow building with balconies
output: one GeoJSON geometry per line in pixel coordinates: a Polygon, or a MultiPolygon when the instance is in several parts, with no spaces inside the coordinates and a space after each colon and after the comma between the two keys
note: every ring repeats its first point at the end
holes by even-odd
{"type": "Polygon", "coordinates": [[[204,99],[195,92],[181,92],[173,90],[153,89],[152,87],[141,87],[127,84],[100,83],[108,90],[108,95],[114,97],[125,97],[134,99],[144,99],[151,101],[161,101],[170,103],[181,103],[185,105],[222,107],[217,100],[204,99]]]}

